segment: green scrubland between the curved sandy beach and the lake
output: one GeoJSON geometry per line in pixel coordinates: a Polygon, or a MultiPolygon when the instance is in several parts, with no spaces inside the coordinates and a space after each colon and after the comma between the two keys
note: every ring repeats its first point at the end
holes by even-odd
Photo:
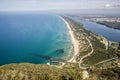
{"type": "Polygon", "coordinates": [[[102,37],[97,36],[92,32],[84,29],[82,24],[72,19],[66,18],[66,20],[70,23],[76,39],[78,39],[80,43],[80,54],[77,58],[77,61],[79,61],[82,56],[91,52],[91,47],[89,46],[90,44],[88,43],[86,38],[90,40],[94,51],[89,57],[86,57],[84,59],[84,64],[94,65],[98,62],[114,57],[115,51],[112,48],[106,50],[105,44],[101,42],[103,41],[102,37]]]}

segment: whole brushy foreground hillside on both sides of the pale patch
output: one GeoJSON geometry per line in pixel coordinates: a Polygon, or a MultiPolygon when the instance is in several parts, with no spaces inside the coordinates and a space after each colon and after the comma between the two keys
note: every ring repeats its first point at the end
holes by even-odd
{"type": "MultiPolygon", "coordinates": [[[[120,67],[87,69],[89,80],[120,80],[120,67]]],[[[8,64],[0,67],[0,80],[83,80],[82,70],[75,65],[60,69],[40,64],[8,64]]]]}

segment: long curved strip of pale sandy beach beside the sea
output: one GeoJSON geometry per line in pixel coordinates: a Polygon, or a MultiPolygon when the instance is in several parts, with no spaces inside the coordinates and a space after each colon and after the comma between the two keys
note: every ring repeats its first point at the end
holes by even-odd
{"type": "MultiPolygon", "coordinates": [[[[74,36],[74,32],[73,32],[73,30],[70,27],[70,24],[63,17],[61,17],[61,16],[59,16],[59,17],[60,17],[60,19],[62,19],[64,21],[64,23],[66,24],[66,27],[69,30],[69,34],[70,34],[70,37],[71,37],[71,42],[72,42],[72,45],[73,45],[73,48],[74,48],[73,49],[74,54],[73,54],[73,56],[70,59],[67,60],[67,62],[76,62],[76,56],[79,53],[79,42],[78,42],[78,40],[76,40],[76,38],[74,36]]],[[[65,65],[65,63],[62,64],[62,66],[63,65],[65,65]]]]}

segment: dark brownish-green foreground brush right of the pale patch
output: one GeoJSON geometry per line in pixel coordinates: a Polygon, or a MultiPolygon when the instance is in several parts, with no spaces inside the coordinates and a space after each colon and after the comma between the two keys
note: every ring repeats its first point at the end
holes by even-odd
{"type": "Polygon", "coordinates": [[[120,80],[120,67],[88,69],[90,80],[120,80]]]}

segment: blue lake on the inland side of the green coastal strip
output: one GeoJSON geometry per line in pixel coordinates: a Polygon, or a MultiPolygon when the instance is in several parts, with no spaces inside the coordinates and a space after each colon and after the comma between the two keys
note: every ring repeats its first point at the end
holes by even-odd
{"type": "Polygon", "coordinates": [[[97,35],[102,35],[110,41],[120,42],[120,30],[109,28],[96,22],[84,21],[78,18],[74,19],[82,23],[87,30],[97,35]]]}

